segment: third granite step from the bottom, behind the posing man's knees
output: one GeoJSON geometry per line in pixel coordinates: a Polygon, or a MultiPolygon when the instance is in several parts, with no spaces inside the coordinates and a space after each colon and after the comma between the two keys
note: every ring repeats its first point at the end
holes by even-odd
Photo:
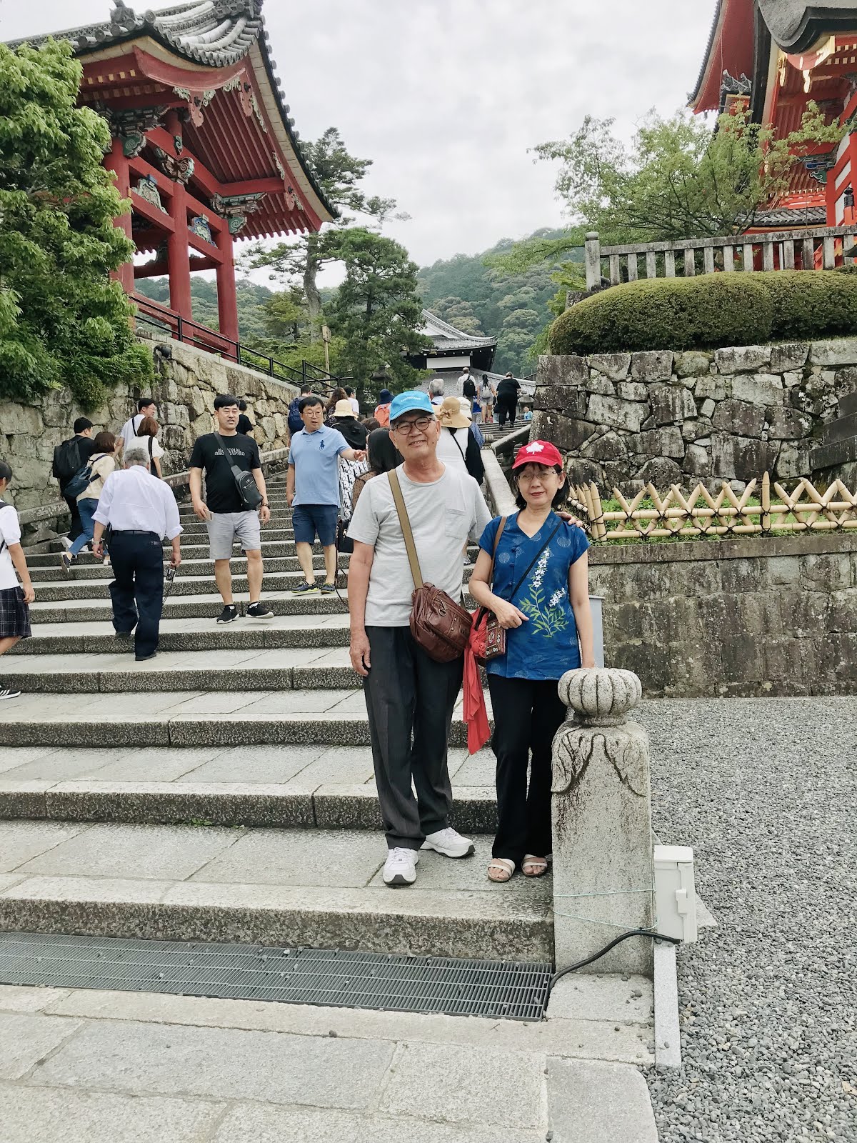
{"type": "MultiPolygon", "coordinates": [[[[486,695],[490,716],[490,698],[486,695]]],[[[22,694],[3,701],[8,746],[369,745],[362,693],[355,688],[288,692],[154,690],[22,694]]],[[[449,743],[465,745],[462,698],[449,743]]]]}

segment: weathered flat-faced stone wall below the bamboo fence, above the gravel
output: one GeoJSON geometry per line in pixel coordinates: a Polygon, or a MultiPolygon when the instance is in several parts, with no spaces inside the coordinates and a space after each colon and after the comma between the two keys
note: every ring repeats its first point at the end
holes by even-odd
{"type": "Polygon", "coordinates": [[[595,545],[609,666],[644,694],[857,693],[857,535],[595,545]]]}

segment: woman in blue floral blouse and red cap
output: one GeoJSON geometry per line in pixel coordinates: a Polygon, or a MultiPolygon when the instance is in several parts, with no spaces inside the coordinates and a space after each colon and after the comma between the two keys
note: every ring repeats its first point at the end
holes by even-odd
{"type": "Polygon", "coordinates": [[[506,652],[488,661],[497,756],[497,836],[488,877],[507,881],[547,872],[551,852],[551,744],[566,717],[560,677],[594,666],[587,582],[588,542],[554,511],[566,482],[562,457],[543,440],[519,450],[513,465],[520,511],[482,533],[470,591],[506,632],[506,652]],[[579,649],[578,649],[579,638],[579,649]],[[532,754],[529,790],[527,764],[532,754]]]}

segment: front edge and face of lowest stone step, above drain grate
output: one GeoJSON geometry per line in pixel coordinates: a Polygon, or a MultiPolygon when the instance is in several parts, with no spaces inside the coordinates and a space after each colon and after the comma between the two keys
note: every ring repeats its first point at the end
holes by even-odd
{"type": "Polygon", "coordinates": [[[478,892],[30,877],[0,893],[0,929],[553,961],[550,909],[478,892]]]}

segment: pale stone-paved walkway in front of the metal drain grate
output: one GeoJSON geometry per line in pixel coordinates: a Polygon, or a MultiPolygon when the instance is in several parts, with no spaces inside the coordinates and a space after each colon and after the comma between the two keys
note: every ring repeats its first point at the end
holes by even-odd
{"type": "Polygon", "coordinates": [[[607,977],[540,1024],[0,988],[3,1143],[657,1143],[607,977]],[[580,1060],[601,1047],[607,1058],[580,1060]]]}

